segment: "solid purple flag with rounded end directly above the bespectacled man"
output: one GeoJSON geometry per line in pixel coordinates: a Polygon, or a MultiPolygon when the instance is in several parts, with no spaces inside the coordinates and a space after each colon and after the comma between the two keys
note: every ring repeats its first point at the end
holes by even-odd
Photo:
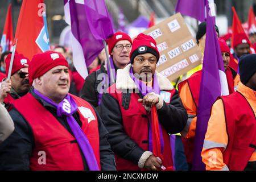
{"type": "Polygon", "coordinates": [[[86,0],[85,13],[90,31],[97,40],[107,40],[114,34],[112,22],[104,0],[86,0]]]}

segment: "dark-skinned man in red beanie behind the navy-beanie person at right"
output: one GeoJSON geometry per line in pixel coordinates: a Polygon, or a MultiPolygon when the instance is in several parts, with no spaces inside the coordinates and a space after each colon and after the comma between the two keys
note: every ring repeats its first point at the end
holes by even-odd
{"type": "Polygon", "coordinates": [[[234,59],[230,60],[230,67],[238,72],[238,63],[242,55],[250,54],[250,40],[245,34],[236,34],[233,39],[234,59]]]}

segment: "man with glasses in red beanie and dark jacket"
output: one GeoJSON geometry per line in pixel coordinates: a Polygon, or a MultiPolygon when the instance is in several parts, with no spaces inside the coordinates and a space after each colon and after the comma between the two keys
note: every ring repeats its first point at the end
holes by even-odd
{"type": "MultiPolygon", "coordinates": [[[[117,69],[125,68],[130,63],[132,40],[129,35],[118,31],[107,41],[110,55],[111,71],[115,78],[117,69]]],[[[106,63],[106,61],[105,61],[106,63]]],[[[101,97],[106,88],[112,85],[108,65],[101,64],[101,68],[86,77],[82,86],[81,97],[100,111],[101,97]]]]}

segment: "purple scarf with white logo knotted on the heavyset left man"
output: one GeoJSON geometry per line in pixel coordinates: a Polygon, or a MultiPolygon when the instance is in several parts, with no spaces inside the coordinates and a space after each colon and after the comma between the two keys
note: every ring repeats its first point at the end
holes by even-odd
{"type": "MultiPolygon", "coordinates": [[[[57,109],[57,116],[58,117],[67,117],[67,122],[69,127],[71,128],[77,143],[79,144],[82,154],[84,155],[86,162],[88,164],[90,171],[99,171],[98,163],[96,160],[96,157],[94,155],[92,146],[90,146],[90,143],[84,133],[82,131],[81,127],[77,123],[76,119],[73,117],[73,113],[77,110],[77,104],[73,100],[73,98],[67,94],[63,101],[61,101],[59,104],[56,104],[53,102],[50,98],[44,96],[38,90],[34,89],[34,92],[36,95],[38,95],[40,98],[42,98],[44,101],[48,102],[49,104],[53,105],[57,109]]],[[[75,155],[75,154],[74,154],[75,155]]]]}

